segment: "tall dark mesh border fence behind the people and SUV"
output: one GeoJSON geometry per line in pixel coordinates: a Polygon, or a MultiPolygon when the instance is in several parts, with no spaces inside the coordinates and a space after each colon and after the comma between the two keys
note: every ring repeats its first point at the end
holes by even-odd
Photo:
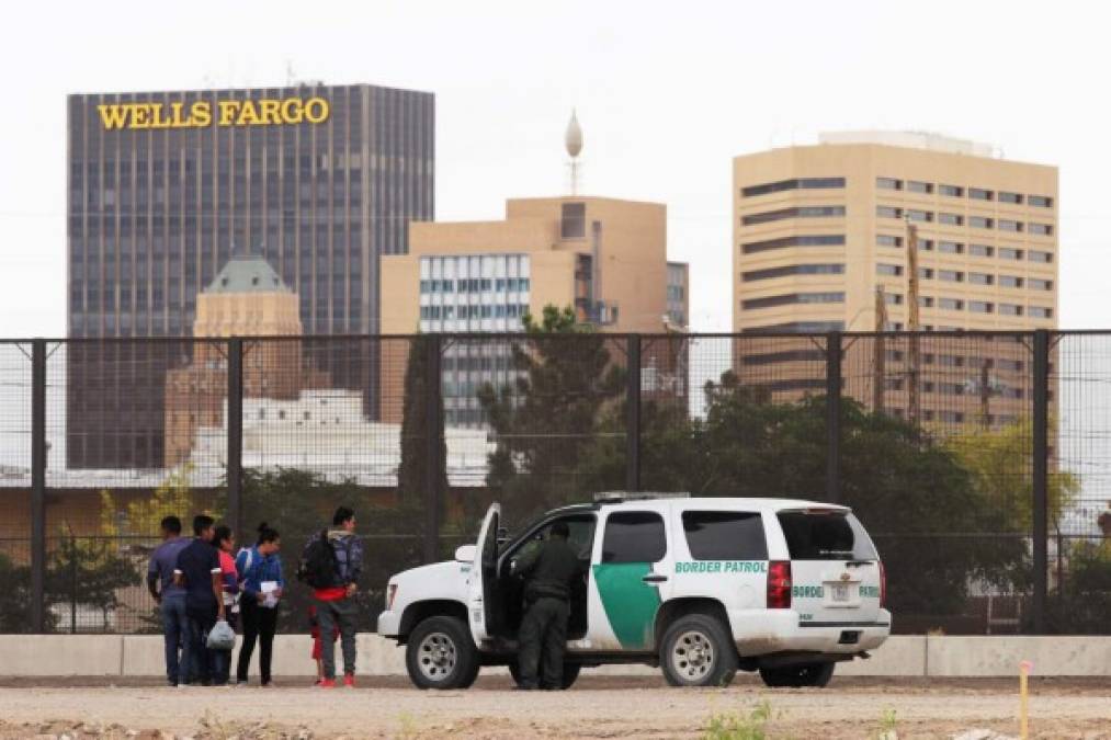
{"type": "Polygon", "coordinates": [[[0,342],[0,632],[158,631],[171,513],[266,520],[292,581],[340,503],[372,629],[491,501],[614,489],[853,507],[898,632],[1108,634],[1111,332],[0,342]]]}

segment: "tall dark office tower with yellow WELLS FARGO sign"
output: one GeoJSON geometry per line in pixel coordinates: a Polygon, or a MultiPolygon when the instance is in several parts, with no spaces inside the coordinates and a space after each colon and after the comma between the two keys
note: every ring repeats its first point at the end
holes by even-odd
{"type": "MultiPolygon", "coordinates": [[[[233,251],[264,257],[293,289],[306,333],[378,332],[379,259],[406,252],[410,220],[434,217],[431,93],[74,94],[68,123],[74,339],[190,336],[198,293],[233,251]]],[[[121,394],[160,397],[172,352],[129,351],[69,347],[70,467],[161,463],[162,410],[117,416],[121,394]]]]}

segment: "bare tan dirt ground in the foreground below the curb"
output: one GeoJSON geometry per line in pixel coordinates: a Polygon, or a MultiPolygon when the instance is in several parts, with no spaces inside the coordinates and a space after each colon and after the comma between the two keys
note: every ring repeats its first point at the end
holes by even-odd
{"type": "MultiPolygon", "coordinates": [[[[0,681],[0,737],[116,738],[703,738],[713,718],[767,701],[770,738],[1018,737],[1018,682],[837,679],[827,689],[669,689],[658,679],[584,674],[563,692],[512,691],[507,678],[423,692],[404,679],[321,691],[277,687],[170,689],[152,681],[0,681]]],[[[1034,679],[1031,737],[1111,740],[1111,682],[1034,679]]],[[[735,736],[750,737],[750,736],[735,736]]]]}

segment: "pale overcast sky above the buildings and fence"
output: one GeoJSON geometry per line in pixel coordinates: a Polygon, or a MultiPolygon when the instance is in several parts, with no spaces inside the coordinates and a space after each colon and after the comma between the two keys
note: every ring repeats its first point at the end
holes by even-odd
{"type": "Polygon", "coordinates": [[[1111,327],[1108,14],[1042,2],[19,3],[0,31],[0,336],[66,331],[66,96],[296,79],[428,90],[437,218],[564,191],[668,206],[692,328],[730,323],[730,159],[939,131],[1061,169],[1061,323],[1111,327]],[[17,9],[18,8],[18,9],[17,9]]]}

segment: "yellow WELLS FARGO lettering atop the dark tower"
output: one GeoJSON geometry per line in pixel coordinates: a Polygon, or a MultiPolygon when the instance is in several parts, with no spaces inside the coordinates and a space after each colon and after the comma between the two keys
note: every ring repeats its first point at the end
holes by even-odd
{"type": "Polygon", "coordinates": [[[110,103],[97,106],[100,120],[113,129],[193,129],[208,126],[279,126],[322,123],[331,107],[323,98],[284,100],[197,100],[189,103],[110,103]]]}

